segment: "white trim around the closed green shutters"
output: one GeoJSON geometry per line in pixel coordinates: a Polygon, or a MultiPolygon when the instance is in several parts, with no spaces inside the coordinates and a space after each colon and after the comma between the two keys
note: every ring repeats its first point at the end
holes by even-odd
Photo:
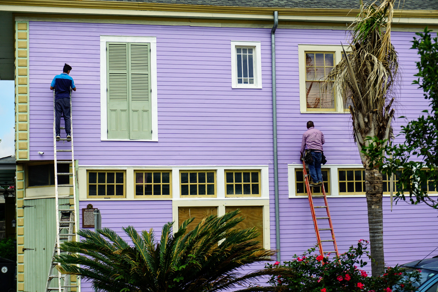
{"type": "Polygon", "coordinates": [[[100,140],[101,141],[158,141],[158,102],[157,102],[157,37],[129,35],[100,36],[100,140]],[[150,42],[151,43],[151,106],[152,138],[108,139],[107,92],[106,92],[106,42],[150,42]]]}

